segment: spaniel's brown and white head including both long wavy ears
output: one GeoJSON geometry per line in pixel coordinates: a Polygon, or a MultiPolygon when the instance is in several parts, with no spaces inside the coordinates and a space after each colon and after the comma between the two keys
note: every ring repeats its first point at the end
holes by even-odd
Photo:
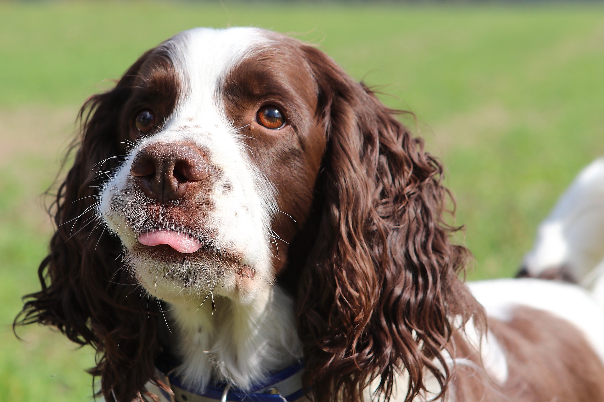
{"type": "Polygon", "coordinates": [[[450,318],[477,308],[442,168],[329,57],[254,28],[185,31],[82,110],[24,313],[97,348],[106,396],[155,378],[154,298],[245,303],[277,282],[316,401],[376,380],[388,398],[403,369],[408,398],[426,369],[446,388],[450,318]]]}

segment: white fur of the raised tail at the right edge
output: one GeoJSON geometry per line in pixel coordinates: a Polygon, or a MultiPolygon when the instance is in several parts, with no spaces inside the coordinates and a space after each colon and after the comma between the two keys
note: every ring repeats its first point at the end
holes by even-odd
{"type": "Polygon", "coordinates": [[[590,286],[604,258],[604,158],[584,168],[539,225],[533,249],[524,257],[532,276],[566,266],[590,286]]]}

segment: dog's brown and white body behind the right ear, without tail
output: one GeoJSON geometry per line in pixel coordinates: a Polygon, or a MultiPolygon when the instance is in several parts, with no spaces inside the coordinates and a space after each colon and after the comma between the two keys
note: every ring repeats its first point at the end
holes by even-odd
{"type": "MultiPolygon", "coordinates": [[[[482,336],[473,322],[457,331],[449,345],[455,357],[447,354],[445,359],[455,366],[448,394],[439,397],[440,385],[428,373],[426,389],[432,392],[422,392],[413,401],[601,400],[604,313],[590,293],[540,279],[496,279],[468,286],[486,310],[489,331],[482,336]]],[[[406,381],[404,374],[396,378],[392,402],[405,401],[406,381]]],[[[191,392],[176,392],[172,399],[153,384],[147,386],[161,402],[182,401],[182,394],[189,402],[197,401],[191,388],[183,387],[191,392]]],[[[371,391],[365,390],[365,401],[371,391]]]]}

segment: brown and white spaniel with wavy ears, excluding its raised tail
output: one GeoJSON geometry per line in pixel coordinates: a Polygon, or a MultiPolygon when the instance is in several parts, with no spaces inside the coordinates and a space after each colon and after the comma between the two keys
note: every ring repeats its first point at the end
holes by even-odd
{"type": "Polygon", "coordinates": [[[442,167],[395,114],[296,39],[176,35],[83,106],[18,322],[94,346],[108,401],[604,400],[604,313],[465,286],[442,167]]]}

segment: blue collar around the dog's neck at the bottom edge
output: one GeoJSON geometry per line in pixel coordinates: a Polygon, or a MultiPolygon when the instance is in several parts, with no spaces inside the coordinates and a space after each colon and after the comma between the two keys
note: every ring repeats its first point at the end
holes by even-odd
{"type": "Polygon", "coordinates": [[[216,401],[231,401],[231,402],[294,402],[304,396],[302,388],[302,372],[304,364],[302,362],[295,363],[288,368],[271,375],[260,384],[254,384],[249,391],[232,388],[227,383],[220,383],[208,388],[199,394],[194,389],[191,389],[184,384],[180,378],[174,375],[164,375],[164,378],[169,380],[170,387],[174,392],[168,395],[164,390],[162,394],[168,400],[176,402],[216,402],[216,401]],[[226,399],[224,399],[226,396],[226,399]]]}

